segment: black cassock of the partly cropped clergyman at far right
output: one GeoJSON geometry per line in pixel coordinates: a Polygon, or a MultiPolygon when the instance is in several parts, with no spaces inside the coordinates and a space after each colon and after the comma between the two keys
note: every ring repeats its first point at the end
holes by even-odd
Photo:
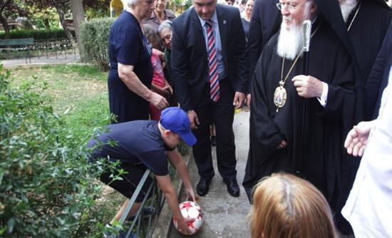
{"type": "MultiPolygon", "coordinates": [[[[349,19],[346,21],[346,31],[351,45],[353,46],[356,63],[358,63],[359,75],[357,75],[356,86],[356,115],[354,124],[362,120],[373,120],[374,103],[368,100],[369,95],[378,92],[366,90],[364,87],[368,80],[369,73],[373,67],[378,51],[381,48],[383,39],[388,31],[391,22],[392,11],[383,0],[359,0],[356,8],[351,11],[349,19]]],[[[353,160],[352,158],[349,160],[353,160]]],[[[351,161],[350,161],[351,162],[351,161]]],[[[356,161],[354,166],[355,176],[359,166],[356,161]]],[[[350,175],[350,177],[353,177],[350,175]]],[[[354,180],[351,181],[351,184],[354,180]]],[[[350,190],[351,185],[349,186],[350,190]]],[[[348,192],[347,192],[348,195],[348,192]]],[[[345,201],[344,201],[345,202],[345,201]]]]}

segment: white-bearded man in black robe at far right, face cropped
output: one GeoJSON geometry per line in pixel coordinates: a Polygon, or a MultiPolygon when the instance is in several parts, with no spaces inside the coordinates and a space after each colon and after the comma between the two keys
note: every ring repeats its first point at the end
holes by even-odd
{"type": "MultiPolygon", "coordinates": [[[[354,63],[357,63],[358,74],[356,75],[356,113],[354,123],[361,120],[370,120],[373,115],[374,103],[368,100],[372,92],[366,90],[369,73],[376,59],[378,51],[386,36],[391,22],[392,11],[383,0],[339,0],[341,14],[345,23],[345,30],[353,46],[354,63]]],[[[349,196],[354,183],[356,171],[360,160],[346,154],[346,159],[341,161],[341,181],[337,194],[338,207],[340,210],[349,196]]],[[[343,234],[352,234],[349,223],[336,214],[336,224],[343,234]]]]}

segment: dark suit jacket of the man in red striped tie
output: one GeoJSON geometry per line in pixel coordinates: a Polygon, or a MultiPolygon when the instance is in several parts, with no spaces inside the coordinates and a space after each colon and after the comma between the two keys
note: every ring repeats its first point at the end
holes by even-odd
{"type": "MultiPolygon", "coordinates": [[[[234,91],[247,92],[247,48],[237,8],[217,4],[217,19],[225,71],[234,91]]],[[[209,80],[207,49],[200,19],[194,8],[173,21],[172,80],[181,108],[192,110],[209,80]]]]}

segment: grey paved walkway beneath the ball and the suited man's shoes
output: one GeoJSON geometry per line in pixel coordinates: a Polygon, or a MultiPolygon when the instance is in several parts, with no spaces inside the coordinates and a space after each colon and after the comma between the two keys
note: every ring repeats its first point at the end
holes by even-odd
{"type": "MultiPolygon", "coordinates": [[[[247,238],[250,237],[249,222],[247,214],[250,205],[241,185],[244,178],[245,165],[247,163],[247,154],[249,149],[249,112],[243,110],[234,115],[234,135],[237,154],[237,180],[241,189],[239,197],[232,197],[227,193],[225,183],[217,172],[216,154],[213,150],[215,177],[210,185],[210,192],[205,197],[201,197],[200,206],[205,215],[205,224],[195,238],[247,238]]],[[[194,187],[199,181],[195,160],[190,160],[188,165],[190,180],[194,187]]],[[[185,195],[180,195],[180,200],[185,200],[185,195]]],[[[170,238],[184,237],[172,227],[170,238]]]]}

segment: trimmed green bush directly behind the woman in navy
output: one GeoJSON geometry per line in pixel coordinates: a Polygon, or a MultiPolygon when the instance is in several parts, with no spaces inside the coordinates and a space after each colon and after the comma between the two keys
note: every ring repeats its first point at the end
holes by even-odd
{"type": "Polygon", "coordinates": [[[109,69],[108,38],[113,18],[93,19],[81,25],[81,43],[87,61],[109,69]]]}

